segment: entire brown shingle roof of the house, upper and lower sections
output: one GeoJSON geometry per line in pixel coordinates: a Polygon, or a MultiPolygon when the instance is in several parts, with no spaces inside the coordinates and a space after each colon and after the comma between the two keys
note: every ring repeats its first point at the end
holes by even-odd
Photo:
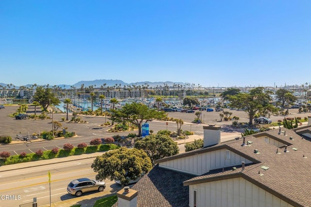
{"type": "Polygon", "coordinates": [[[226,148],[253,161],[253,164],[245,166],[243,171],[241,166],[236,166],[237,170],[232,171],[232,166],[224,172],[218,169],[201,176],[178,173],[156,166],[133,187],[134,190],[138,190],[138,207],[187,207],[189,206],[189,185],[234,177],[243,177],[293,206],[311,207],[311,196],[309,196],[311,142],[292,130],[282,128],[281,131],[282,133],[279,134],[279,130],[275,129],[248,136],[246,143],[247,141],[252,143],[247,146],[242,146],[243,139],[232,140],[157,160],[156,163],[160,163],[226,148]],[[263,136],[283,143],[283,147],[277,148],[265,143],[259,139],[263,136]],[[285,144],[288,145],[286,153],[285,144]],[[259,154],[254,153],[255,149],[259,154]],[[269,169],[263,170],[260,168],[262,166],[267,166],[269,169]],[[259,172],[263,175],[260,176],[259,172]]]}

